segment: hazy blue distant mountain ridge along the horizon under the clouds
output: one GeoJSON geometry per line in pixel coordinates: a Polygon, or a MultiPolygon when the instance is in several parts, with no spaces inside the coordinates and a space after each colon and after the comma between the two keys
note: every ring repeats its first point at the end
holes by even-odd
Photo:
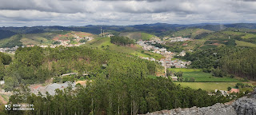
{"type": "Polygon", "coordinates": [[[9,30],[18,34],[28,34],[31,32],[38,31],[56,31],[56,30],[74,30],[82,31],[92,34],[100,34],[100,27],[102,30],[115,30],[118,32],[131,32],[131,31],[142,31],[148,33],[158,33],[171,30],[182,30],[187,27],[197,27],[205,30],[222,30],[227,27],[232,28],[246,28],[256,29],[256,23],[235,23],[235,24],[218,24],[218,23],[198,23],[198,24],[167,24],[167,23],[154,23],[154,24],[142,24],[134,26],[106,26],[106,25],[88,25],[88,26],[32,26],[32,27],[0,27],[0,30],[9,30]]]}

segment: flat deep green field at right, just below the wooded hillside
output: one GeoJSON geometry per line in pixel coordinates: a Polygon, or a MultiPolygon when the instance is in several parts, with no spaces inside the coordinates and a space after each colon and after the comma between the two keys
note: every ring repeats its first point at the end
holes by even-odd
{"type": "Polygon", "coordinates": [[[231,77],[213,77],[211,73],[204,73],[201,69],[170,69],[171,71],[182,71],[183,79],[194,77],[195,82],[238,82],[241,80],[231,77]]]}

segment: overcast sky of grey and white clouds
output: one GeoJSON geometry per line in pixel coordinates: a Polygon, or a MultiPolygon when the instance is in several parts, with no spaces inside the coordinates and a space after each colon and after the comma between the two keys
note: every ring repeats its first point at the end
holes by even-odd
{"type": "Polygon", "coordinates": [[[256,23],[255,0],[0,0],[0,26],[256,23]]]}

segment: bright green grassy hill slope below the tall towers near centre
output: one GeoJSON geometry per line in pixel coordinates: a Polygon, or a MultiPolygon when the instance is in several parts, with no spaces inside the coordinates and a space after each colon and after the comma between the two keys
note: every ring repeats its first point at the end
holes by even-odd
{"type": "Polygon", "coordinates": [[[155,59],[160,59],[161,54],[150,53],[149,51],[144,51],[142,53],[141,46],[134,44],[134,46],[117,46],[110,42],[110,38],[95,38],[93,41],[86,42],[85,46],[98,47],[107,50],[113,50],[121,53],[132,54],[139,57],[154,57],[155,59]]]}

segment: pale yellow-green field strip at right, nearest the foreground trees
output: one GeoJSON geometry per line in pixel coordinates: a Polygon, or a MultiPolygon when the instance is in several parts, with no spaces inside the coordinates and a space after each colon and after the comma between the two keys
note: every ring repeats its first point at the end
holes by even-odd
{"type": "Polygon", "coordinates": [[[190,87],[191,89],[204,89],[210,90],[227,90],[227,87],[234,87],[237,82],[174,82],[174,84],[180,84],[182,87],[190,87]]]}

